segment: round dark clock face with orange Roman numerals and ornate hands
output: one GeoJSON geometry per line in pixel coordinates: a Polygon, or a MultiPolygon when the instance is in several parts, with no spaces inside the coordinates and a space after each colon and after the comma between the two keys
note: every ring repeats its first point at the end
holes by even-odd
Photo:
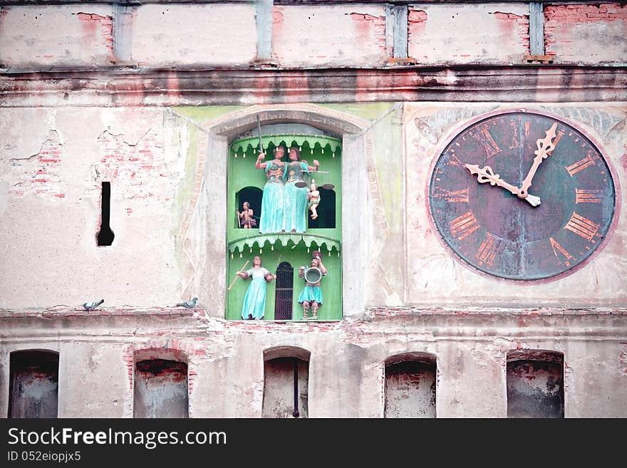
{"type": "Polygon", "coordinates": [[[534,280],[589,259],[608,234],[616,197],[603,155],[579,130],[512,112],[453,138],[435,163],[429,204],[457,259],[534,280]]]}

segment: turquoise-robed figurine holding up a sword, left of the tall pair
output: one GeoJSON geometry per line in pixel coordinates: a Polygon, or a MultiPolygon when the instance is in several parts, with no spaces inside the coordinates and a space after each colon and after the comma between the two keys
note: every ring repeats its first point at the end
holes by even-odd
{"type": "Polygon", "coordinates": [[[255,167],[266,172],[266,184],[261,198],[261,219],[259,220],[259,232],[281,232],[283,229],[283,179],[285,163],[282,161],[285,149],[282,146],[274,148],[274,159],[262,162],[265,153],[259,153],[255,167]]]}

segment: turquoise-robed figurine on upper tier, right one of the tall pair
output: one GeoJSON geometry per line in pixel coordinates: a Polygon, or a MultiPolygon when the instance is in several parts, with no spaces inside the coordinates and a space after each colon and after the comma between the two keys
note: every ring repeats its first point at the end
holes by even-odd
{"type": "Polygon", "coordinates": [[[314,160],[314,166],[307,165],[301,159],[301,152],[297,147],[289,149],[289,163],[284,174],[284,232],[305,232],[307,227],[307,186],[304,184],[304,175],[317,171],[320,165],[314,160]],[[298,187],[296,185],[302,185],[298,187]]]}

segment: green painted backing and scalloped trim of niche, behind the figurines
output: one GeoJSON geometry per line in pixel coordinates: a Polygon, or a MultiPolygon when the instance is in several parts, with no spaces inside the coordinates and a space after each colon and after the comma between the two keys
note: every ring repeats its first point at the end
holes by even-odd
{"type": "MultiPolygon", "coordinates": [[[[320,251],[321,259],[328,274],[321,280],[323,305],[318,310],[318,321],[334,321],[342,318],[342,259],[341,259],[341,139],[326,135],[279,134],[265,135],[261,138],[265,161],[272,159],[274,147],[282,145],[288,149],[298,146],[301,150],[301,161],[309,165],[314,159],[320,162],[320,171],[313,175],[321,187],[333,184],[333,189],[321,189],[321,204],[318,207],[318,219],[312,220],[307,212],[308,225],[305,233],[265,233],[259,234],[261,217],[261,197],[266,184],[264,170],[256,169],[255,162],[259,154],[259,137],[243,137],[229,145],[228,179],[227,179],[227,285],[236,278],[236,271],[242,269],[244,262],[252,267],[253,257],[261,256],[261,266],[272,274],[281,265],[282,281],[271,281],[266,285],[266,306],[264,320],[294,320],[303,317],[302,306],[298,297],[305,286],[304,279],[299,278],[299,267],[309,266],[313,251],[320,251]],[[238,227],[237,210],[242,210],[243,202],[249,202],[257,221],[257,228],[243,229],[238,227]],[[286,281],[288,269],[292,272],[291,281],[286,281]],[[278,306],[283,315],[275,317],[279,282],[278,306]],[[292,289],[286,284],[291,283],[292,289]],[[285,310],[291,293],[291,318],[286,318],[285,310]]],[[[308,184],[311,180],[307,180],[308,184]]],[[[252,279],[237,277],[230,291],[227,291],[227,319],[242,320],[242,304],[247,288],[252,279]]],[[[311,317],[311,311],[309,312],[311,317]]]]}

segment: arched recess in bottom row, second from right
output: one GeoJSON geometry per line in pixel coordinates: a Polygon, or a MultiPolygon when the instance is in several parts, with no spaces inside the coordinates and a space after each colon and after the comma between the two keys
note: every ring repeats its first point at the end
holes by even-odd
{"type": "Polygon", "coordinates": [[[428,353],[402,353],[385,360],[384,417],[435,417],[437,361],[428,353]]]}

